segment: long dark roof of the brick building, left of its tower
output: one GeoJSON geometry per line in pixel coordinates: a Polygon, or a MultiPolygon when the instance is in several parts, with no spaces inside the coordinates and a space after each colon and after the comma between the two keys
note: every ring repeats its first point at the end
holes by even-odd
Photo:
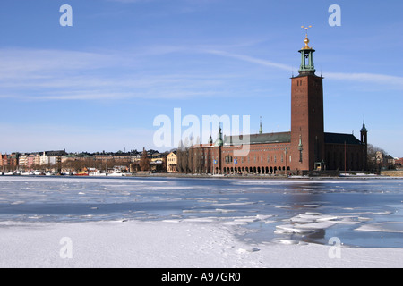
{"type": "Polygon", "coordinates": [[[265,143],[289,143],[291,142],[291,132],[250,134],[247,136],[225,136],[224,146],[241,144],[265,144],[265,143]]]}

